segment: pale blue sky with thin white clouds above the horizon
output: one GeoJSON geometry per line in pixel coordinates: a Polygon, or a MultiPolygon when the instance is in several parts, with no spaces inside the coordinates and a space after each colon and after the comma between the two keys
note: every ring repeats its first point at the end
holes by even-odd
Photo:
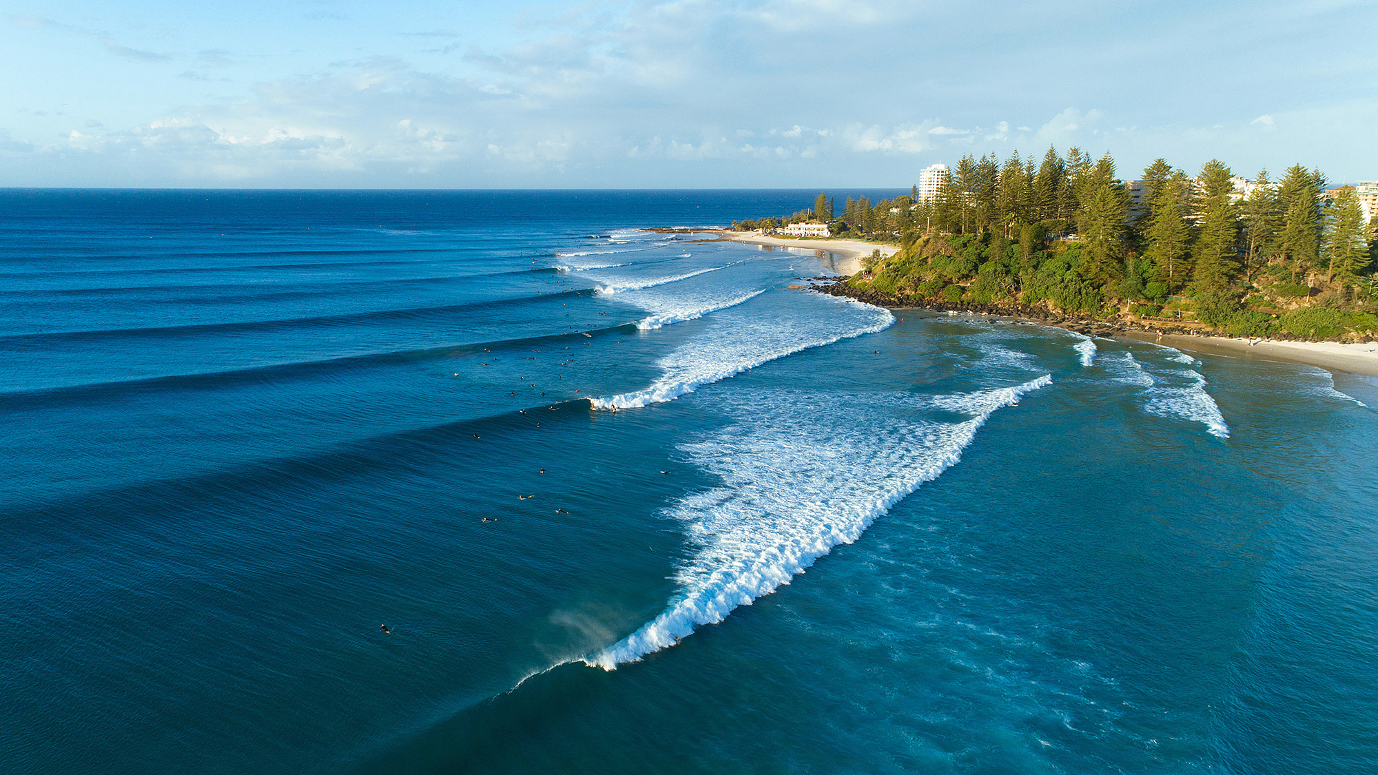
{"type": "Polygon", "coordinates": [[[973,153],[1378,179],[1378,1],[8,0],[0,186],[909,186],[973,153]]]}

